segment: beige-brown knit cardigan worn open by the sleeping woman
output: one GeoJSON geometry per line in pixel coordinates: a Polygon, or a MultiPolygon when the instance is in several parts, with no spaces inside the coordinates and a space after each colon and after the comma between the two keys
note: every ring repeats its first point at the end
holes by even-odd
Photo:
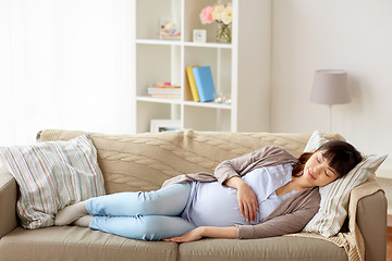
{"type": "MultiPolygon", "coordinates": [[[[265,147],[248,154],[225,160],[209,173],[185,174],[167,181],[163,186],[175,183],[219,182],[223,184],[233,176],[243,176],[261,166],[295,163],[296,158],[280,147],[265,147]]],[[[262,238],[296,233],[317,213],[320,206],[318,187],[304,189],[284,200],[269,216],[257,225],[237,225],[237,238],[262,238]]]]}

